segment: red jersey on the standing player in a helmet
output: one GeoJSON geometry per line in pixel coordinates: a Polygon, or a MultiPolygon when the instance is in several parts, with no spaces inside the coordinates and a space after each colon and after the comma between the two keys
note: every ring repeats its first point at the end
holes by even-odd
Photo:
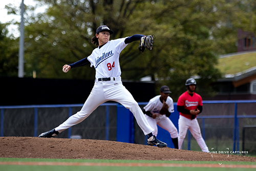
{"type": "MultiPolygon", "coordinates": [[[[202,97],[194,92],[193,96],[190,96],[187,92],[184,92],[182,95],[180,95],[177,105],[184,106],[184,109],[186,110],[196,110],[199,105],[203,106],[202,97]]],[[[191,114],[183,114],[180,112],[180,115],[191,119],[193,115],[191,114]]]]}

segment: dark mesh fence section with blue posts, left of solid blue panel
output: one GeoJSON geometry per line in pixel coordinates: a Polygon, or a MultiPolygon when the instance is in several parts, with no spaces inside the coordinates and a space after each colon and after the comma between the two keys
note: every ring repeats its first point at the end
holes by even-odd
{"type": "MultiPolygon", "coordinates": [[[[42,132],[54,129],[69,116],[80,111],[82,105],[13,106],[13,108],[9,106],[6,109],[2,106],[1,136],[38,136],[42,132]]],[[[68,131],[63,131],[58,138],[70,138],[76,135],[82,139],[116,141],[116,105],[116,103],[100,105],[87,119],[72,126],[68,131]]]]}

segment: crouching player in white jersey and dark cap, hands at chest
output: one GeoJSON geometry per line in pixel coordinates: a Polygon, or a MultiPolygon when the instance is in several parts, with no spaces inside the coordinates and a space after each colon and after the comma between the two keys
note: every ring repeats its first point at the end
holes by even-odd
{"type": "Polygon", "coordinates": [[[153,134],[157,136],[158,129],[157,125],[162,127],[162,129],[170,133],[170,137],[174,143],[174,147],[179,149],[178,146],[178,131],[169,119],[170,113],[174,112],[174,101],[169,96],[170,92],[167,86],[162,86],[160,89],[160,95],[150,99],[146,106],[144,106],[145,117],[153,127],[155,131],[153,134]]]}

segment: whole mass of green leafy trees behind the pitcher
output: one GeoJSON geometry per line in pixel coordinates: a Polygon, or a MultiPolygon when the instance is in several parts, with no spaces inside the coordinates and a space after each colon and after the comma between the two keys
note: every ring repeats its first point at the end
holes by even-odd
{"type": "MultiPolygon", "coordinates": [[[[151,76],[157,93],[163,84],[174,100],[185,91],[184,82],[195,76],[197,92],[212,96],[211,82],[221,77],[218,55],[236,52],[237,29],[255,31],[256,4],[252,0],[193,1],[79,1],[36,0],[46,13],[26,15],[25,72],[39,78],[94,79],[89,66],[63,73],[63,65],[91,54],[91,38],[99,25],[107,25],[111,39],[144,34],[156,36],[153,51],[138,51],[132,42],[120,55],[123,79],[151,76]]],[[[17,13],[7,7],[10,13],[17,13]]],[[[27,7],[33,10],[32,7],[27,7]]],[[[27,12],[28,13],[28,12],[27,12]]]]}

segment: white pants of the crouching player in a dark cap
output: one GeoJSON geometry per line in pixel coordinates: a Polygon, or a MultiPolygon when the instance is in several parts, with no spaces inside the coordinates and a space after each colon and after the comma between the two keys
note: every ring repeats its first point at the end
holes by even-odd
{"type": "Polygon", "coordinates": [[[171,138],[178,137],[178,131],[177,131],[175,125],[168,117],[162,116],[161,118],[156,118],[156,119],[154,119],[150,116],[147,116],[147,115],[145,115],[145,117],[146,117],[147,122],[154,129],[153,135],[157,136],[157,134],[158,134],[157,125],[159,125],[160,127],[162,127],[162,129],[164,129],[170,133],[171,138]]]}

